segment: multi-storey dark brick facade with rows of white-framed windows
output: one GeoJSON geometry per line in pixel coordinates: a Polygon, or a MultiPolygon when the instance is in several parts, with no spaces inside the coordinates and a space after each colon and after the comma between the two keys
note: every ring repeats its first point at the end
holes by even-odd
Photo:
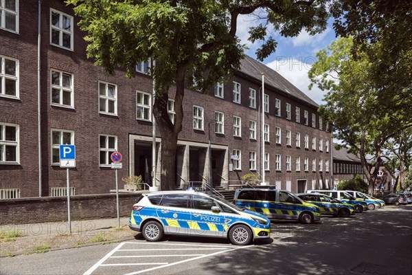
{"type": "MultiPolygon", "coordinates": [[[[0,8],[2,198],[63,190],[66,169],[59,165],[58,144],[76,145],[76,168],[69,173],[77,195],[115,188],[109,159],[115,150],[123,155],[119,178],[142,175],[152,184],[152,78],[144,72],[125,78],[121,70],[108,76],[93,66],[73,7],[62,0],[43,0],[40,6],[36,0],[2,1],[0,8]]],[[[261,173],[264,135],[266,182],[294,192],[330,187],[332,143],[317,107],[282,76],[246,57],[217,91],[185,91],[176,181],[181,186],[207,181],[209,153],[214,185],[261,173]],[[264,134],[262,74],[268,98],[264,134]]],[[[156,143],[159,179],[159,133],[156,143]]]]}

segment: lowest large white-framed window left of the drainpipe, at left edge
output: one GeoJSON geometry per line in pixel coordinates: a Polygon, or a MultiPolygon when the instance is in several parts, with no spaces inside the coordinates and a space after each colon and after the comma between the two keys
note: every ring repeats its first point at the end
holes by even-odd
{"type": "Polygon", "coordinates": [[[19,125],[0,122],[0,164],[18,164],[19,125]]]}

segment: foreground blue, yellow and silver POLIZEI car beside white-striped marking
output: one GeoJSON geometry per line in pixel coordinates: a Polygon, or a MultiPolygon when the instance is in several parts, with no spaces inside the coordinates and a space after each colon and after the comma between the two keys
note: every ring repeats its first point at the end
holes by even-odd
{"type": "Polygon", "coordinates": [[[270,238],[271,221],[214,195],[196,191],[148,192],[133,205],[129,228],[147,241],[163,234],[229,238],[234,245],[270,238]]]}

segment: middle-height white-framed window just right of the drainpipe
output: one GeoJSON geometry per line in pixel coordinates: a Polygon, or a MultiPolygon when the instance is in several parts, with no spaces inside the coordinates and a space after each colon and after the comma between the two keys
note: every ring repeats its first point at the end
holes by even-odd
{"type": "Polygon", "coordinates": [[[52,105],[74,107],[73,75],[52,69],[52,105]]]}

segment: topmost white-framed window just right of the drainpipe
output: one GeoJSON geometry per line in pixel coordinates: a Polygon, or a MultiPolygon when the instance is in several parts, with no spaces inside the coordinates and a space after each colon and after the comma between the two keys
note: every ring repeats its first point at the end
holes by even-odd
{"type": "Polygon", "coordinates": [[[50,10],[50,43],[73,50],[73,17],[58,10],[50,10]]]}

